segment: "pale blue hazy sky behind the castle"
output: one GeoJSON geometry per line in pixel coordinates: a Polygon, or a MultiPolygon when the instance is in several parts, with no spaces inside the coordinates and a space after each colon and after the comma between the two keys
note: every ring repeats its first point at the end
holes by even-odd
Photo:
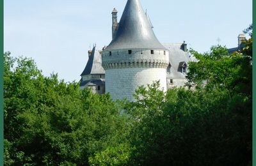
{"type": "MultiPolygon", "coordinates": [[[[6,0],[4,51],[35,59],[44,75],[79,80],[88,49],[111,41],[111,11],[122,16],[126,0],[6,0]]],[[[162,43],[181,43],[205,52],[212,45],[237,47],[252,24],[252,0],[141,0],[162,43]]]]}

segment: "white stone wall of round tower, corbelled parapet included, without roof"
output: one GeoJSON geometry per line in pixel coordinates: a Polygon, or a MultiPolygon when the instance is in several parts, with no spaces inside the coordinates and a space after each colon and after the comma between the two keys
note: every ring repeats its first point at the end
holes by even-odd
{"type": "Polygon", "coordinates": [[[106,92],[116,99],[133,101],[138,86],[159,80],[166,91],[168,50],[128,49],[102,52],[102,66],[106,70],[106,92]]]}

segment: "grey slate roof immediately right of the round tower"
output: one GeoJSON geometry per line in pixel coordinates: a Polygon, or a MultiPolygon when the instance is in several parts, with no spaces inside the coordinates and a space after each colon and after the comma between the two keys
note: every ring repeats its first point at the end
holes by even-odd
{"type": "Polygon", "coordinates": [[[186,75],[181,73],[180,65],[188,64],[191,61],[191,56],[181,49],[182,43],[163,43],[163,46],[169,50],[169,61],[172,64],[170,75],[167,75],[167,77],[184,79],[186,75]]]}

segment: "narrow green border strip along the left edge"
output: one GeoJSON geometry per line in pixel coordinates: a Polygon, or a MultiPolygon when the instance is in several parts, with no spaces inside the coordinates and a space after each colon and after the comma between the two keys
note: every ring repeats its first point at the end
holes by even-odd
{"type": "Polygon", "coordinates": [[[3,54],[4,54],[4,0],[0,0],[0,165],[4,165],[4,108],[3,108],[3,54]]]}

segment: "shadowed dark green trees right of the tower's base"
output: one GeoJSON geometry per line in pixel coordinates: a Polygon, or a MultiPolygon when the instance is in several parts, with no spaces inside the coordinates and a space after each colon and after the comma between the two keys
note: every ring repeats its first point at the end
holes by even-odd
{"type": "Polygon", "coordinates": [[[248,165],[252,161],[252,57],[212,47],[193,52],[191,89],[158,83],[138,89],[127,104],[133,165],[248,165]]]}

